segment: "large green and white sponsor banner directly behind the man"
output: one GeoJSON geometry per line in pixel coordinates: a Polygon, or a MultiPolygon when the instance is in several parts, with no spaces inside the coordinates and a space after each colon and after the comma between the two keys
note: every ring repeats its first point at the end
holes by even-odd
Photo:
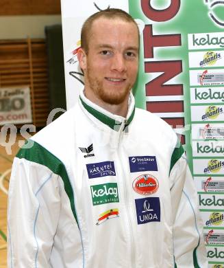
{"type": "Polygon", "coordinates": [[[138,23],[136,106],[156,113],[181,137],[199,194],[209,267],[223,268],[223,1],[62,0],[68,108],[84,87],[77,64],[82,23],[109,6],[129,12],[138,23]]]}

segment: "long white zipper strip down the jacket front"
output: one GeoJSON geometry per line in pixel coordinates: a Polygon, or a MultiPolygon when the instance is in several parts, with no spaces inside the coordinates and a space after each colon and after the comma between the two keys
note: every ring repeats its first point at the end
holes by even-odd
{"type": "Polygon", "coordinates": [[[121,159],[121,149],[120,149],[120,144],[121,144],[121,139],[123,137],[123,134],[125,132],[125,128],[127,127],[127,120],[124,120],[123,123],[121,124],[121,129],[119,130],[119,143],[118,143],[118,156],[119,156],[119,161],[121,163],[121,169],[123,172],[123,183],[125,186],[125,207],[127,208],[127,220],[128,220],[128,225],[129,225],[129,233],[131,236],[131,248],[132,248],[132,268],[135,268],[135,249],[134,249],[134,234],[133,234],[133,229],[132,229],[132,221],[131,221],[131,213],[130,213],[130,208],[128,205],[128,194],[127,194],[127,183],[125,179],[125,170],[122,165],[122,159],[121,159]]]}

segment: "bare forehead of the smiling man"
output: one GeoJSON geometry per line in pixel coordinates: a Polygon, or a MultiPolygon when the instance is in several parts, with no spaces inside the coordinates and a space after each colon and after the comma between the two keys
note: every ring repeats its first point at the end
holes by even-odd
{"type": "Polygon", "coordinates": [[[92,23],[88,43],[91,46],[105,42],[138,47],[138,28],[132,21],[99,18],[92,23]]]}

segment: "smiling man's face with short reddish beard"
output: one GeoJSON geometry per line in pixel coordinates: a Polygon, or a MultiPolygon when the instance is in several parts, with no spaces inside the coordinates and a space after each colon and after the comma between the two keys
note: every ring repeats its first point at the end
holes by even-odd
{"type": "Polygon", "coordinates": [[[79,60],[85,90],[101,102],[126,101],[138,72],[138,30],[121,19],[97,19],[92,23],[88,53],[79,60]]]}

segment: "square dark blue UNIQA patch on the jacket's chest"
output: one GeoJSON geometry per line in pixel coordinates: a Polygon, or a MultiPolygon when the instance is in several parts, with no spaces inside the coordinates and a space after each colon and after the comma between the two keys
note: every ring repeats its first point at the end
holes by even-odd
{"type": "Polygon", "coordinates": [[[147,197],[135,201],[138,224],[160,221],[159,197],[147,197]]]}

